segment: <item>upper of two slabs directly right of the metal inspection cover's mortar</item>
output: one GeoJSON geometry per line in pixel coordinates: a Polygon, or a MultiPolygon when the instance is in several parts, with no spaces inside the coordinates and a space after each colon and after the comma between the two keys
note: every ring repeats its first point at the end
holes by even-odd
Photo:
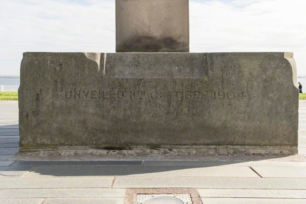
{"type": "Polygon", "coordinates": [[[306,190],[198,189],[200,197],[225,198],[306,198],[306,190]]]}

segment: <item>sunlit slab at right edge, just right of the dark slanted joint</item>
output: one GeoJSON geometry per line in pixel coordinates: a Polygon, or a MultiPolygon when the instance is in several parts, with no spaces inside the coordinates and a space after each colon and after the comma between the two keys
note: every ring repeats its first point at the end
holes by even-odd
{"type": "Polygon", "coordinates": [[[306,167],[263,167],[252,166],[262,177],[306,178],[306,167]]]}

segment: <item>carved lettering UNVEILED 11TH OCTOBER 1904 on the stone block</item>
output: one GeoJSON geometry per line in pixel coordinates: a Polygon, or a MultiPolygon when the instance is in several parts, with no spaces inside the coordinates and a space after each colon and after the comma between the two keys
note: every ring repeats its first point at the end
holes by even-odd
{"type": "Polygon", "coordinates": [[[176,90],[176,91],[147,91],[147,90],[67,90],[64,93],[66,99],[243,99],[245,92],[220,91],[212,92],[176,90]]]}

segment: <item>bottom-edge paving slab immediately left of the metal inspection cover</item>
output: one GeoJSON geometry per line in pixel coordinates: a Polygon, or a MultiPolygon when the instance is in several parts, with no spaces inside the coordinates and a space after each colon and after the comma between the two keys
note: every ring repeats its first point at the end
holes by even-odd
{"type": "Polygon", "coordinates": [[[43,204],[122,204],[123,198],[47,198],[43,204]]]}

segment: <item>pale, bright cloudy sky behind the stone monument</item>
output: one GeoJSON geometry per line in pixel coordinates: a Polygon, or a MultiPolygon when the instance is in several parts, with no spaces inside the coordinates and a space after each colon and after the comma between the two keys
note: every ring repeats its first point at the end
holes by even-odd
{"type": "MultiPolygon", "coordinates": [[[[190,0],[190,52],[293,52],[306,76],[305,0],[190,0]]],[[[115,0],[0,0],[0,76],[23,52],[115,52],[115,0]]]]}

